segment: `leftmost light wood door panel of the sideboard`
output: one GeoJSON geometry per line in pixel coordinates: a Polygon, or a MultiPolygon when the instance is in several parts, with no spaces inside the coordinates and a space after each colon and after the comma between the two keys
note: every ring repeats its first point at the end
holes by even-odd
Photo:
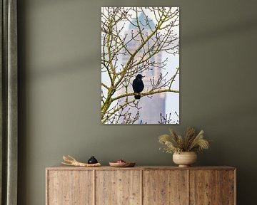
{"type": "Polygon", "coordinates": [[[93,171],[48,171],[47,205],[94,204],[93,171]]]}

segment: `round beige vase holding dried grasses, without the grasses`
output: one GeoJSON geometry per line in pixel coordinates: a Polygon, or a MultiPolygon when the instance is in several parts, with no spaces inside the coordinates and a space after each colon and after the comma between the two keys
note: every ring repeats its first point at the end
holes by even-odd
{"type": "Polygon", "coordinates": [[[191,164],[196,163],[196,152],[180,152],[173,154],[173,162],[178,164],[178,167],[190,167],[191,164]]]}

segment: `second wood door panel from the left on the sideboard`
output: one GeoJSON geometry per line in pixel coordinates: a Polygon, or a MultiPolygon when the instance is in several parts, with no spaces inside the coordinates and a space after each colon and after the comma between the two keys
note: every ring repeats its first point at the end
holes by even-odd
{"type": "Polygon", "coordinates": [[[140,177],[138,170],[96,171],[96,205],[140,205],[140,177]]]}

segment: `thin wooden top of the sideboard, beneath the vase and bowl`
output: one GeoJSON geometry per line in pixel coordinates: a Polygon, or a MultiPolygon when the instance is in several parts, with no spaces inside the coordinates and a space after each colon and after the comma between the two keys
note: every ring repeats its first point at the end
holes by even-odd
{"type": "Polygon", "coordinates": [[[228,166],[204,166],[204,167],[175,167],[175,166],[135,166],[135,167],[68,167],[64,165],[46,167],[46,170],[235,170],[235,167],[228,166]]]}

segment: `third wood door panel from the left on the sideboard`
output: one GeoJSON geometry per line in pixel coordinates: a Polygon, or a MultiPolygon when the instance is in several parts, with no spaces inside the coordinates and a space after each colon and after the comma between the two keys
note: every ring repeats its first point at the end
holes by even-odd
{"type": "Polygon", "coordinates": [[[143,171],[143,204],[188,204],[186,170],[143,171]]]}

